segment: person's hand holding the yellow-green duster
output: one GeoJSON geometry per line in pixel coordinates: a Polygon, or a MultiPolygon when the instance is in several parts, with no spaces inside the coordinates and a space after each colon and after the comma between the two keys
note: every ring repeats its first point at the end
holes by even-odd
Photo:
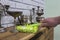
{"type": "Polygon", "coordinates": [[[58,25],[58,22],[56,20],[56,18],[46,18],[44,20],[41,20],[42,24],[41,27],[55,27],[58,25]]]}

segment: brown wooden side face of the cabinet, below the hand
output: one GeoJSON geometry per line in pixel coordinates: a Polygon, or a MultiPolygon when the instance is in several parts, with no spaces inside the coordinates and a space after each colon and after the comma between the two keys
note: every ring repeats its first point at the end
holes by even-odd
{"type": "Polygon", "coordinates": [[[43,34],[36,40],[53,40],[54,28],[44,29],[43,34]]]}

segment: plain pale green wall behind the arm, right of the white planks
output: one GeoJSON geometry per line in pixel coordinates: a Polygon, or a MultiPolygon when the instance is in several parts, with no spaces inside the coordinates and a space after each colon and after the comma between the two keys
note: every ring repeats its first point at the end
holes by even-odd
{"type": "MultiPolygon", "coordinates": [[[[48,17],[60,16],[60,0],[45,0],[45,15],[48,17]]],[[[60,25],[54,29],[54,40],[60,40],[60,25]]]]}

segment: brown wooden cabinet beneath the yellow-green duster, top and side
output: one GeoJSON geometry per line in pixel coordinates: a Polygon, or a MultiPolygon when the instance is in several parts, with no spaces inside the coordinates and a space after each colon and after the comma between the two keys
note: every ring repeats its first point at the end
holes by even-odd
{"type": "Polygon", "coordinates": [[[53,40],[53,28],[42,28],[36,34],[21,32],[11,33],[7,31],[0,33],[0,40],[53,40]]]}

